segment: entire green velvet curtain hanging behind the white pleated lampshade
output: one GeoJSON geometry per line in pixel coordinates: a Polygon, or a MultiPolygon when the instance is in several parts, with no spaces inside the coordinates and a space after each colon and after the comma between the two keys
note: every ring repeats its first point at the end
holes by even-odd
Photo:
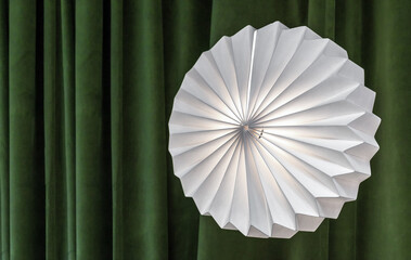
{"type": "Polygon", "coordinates": [[[1,0],[1,259],[411,259],[408,0],[1,0]],[[203,51],[246,25],[308,25],[365,69],[373,176],[337,220],[258,239],[198,217],[167,121],[203,51]]]}

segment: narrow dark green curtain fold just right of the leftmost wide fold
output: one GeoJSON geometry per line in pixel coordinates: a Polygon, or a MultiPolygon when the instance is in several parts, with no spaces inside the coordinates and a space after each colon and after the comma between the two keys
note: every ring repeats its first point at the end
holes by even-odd
{"type": "Polygon", "coordinates": [[[43,6],[46,258],[67,259],[68,212],[61,2],[47,0],[43,6]]]}

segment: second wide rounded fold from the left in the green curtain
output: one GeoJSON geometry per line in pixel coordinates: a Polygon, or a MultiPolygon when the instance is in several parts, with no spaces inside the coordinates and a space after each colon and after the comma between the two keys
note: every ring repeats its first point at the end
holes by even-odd
{"type": "Polygon", "coordinates": [[[103,1],[76,1],[76,256],[112,256],[110,106],[103,75],[103,1]]]}

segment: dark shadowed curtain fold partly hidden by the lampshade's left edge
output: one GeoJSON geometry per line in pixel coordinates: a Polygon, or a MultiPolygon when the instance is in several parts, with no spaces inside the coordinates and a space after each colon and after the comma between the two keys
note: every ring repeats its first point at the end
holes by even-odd
{"type": "MultiPolygon", "coordinates": [[[[163,5],[166,121],[184,74],[208,49],[210,1],[165,1],[163,5]]],[[[168,131],[167,131],[168,133],[168,131]]],[[[168,140],[167,140],[168,143],[168,140]]],[[[168,252],[170,259],[195,259],[198,211],[185,199],[167,155],[168,252]]]]}

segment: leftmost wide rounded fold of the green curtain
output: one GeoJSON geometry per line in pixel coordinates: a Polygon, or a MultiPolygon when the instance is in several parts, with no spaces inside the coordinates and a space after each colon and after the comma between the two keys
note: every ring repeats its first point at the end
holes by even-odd
{"type": "Polygon", "coordinates": [[[41,4],[10,1],[9,12],[10,257],[40,259],[46,222],[41,4]]]}

